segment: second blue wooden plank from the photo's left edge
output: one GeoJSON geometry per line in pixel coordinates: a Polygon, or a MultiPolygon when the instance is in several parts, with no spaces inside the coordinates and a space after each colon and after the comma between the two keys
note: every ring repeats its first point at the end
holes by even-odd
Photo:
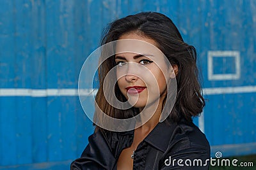
{"type": "MultiPolygon", "coordinates": [[[[17,87],[31,87],[31,2],[15,1],[15,74],[17,87]]],[[[16,159],[17,164],[32,162],[31,98],[17,97],[16,104],[16,159]]]]}

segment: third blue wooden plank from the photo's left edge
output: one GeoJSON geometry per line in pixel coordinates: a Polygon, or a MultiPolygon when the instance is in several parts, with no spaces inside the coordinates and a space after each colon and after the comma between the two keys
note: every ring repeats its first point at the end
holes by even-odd
{"type": "MultiPolygon", "coordinates": [[[[44,1],[33,1],[31,4],[31,22],[33,28],[30,32],[31,41],[31,89],[46,89],[46,21],[44,1]]],[[[46,162],[47,147],[47,97],[31,98],[31,136],[32,136],[32,162],[46,162]]]]}

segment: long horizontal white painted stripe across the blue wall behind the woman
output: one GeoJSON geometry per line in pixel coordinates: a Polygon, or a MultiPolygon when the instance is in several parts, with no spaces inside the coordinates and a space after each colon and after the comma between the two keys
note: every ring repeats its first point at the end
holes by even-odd
{"type": "MultiPolygon", "coordinates": [[[[256,92],[256,86],[243,87],[216,87],[203,89],[204,95],[214,94],[236,94],[236,93],[252,93],[256,92]]],[[[97,89],[79,89],[82,96],[95,95],[97,89]]],[[[31,97],[47,97],[47,96],[78,96],[77,89],[0,89],[0,97],[4,96],[31,96],[31,97]]]]}

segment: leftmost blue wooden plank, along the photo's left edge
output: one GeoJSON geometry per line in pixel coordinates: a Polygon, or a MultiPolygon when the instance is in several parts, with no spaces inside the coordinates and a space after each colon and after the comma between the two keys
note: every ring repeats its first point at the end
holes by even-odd
{"type": "MultiPolygon", "coordinates": [[[[0,1],[1,26],[0,26],[0,49],[1,49],[1,87],[15,87],[15,5],[13,1],[0,1]]],[[[1,97],[0,105],[0,164],[15,165],[16,159],[16,97],[1,97]]]]}

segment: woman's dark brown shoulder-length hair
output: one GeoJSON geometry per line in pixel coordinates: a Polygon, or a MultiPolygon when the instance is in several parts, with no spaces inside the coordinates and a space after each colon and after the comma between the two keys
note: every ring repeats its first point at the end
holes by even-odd
{"type": "MultiPolygon", "coordinates": [[[[201,94],[202,89],[198,81],[196,50],[194,46],[184,43],[180,32],[170,18],[156,12],[142,12],[115,20],[106,29],[101,45],[118,40],[123,34],[131,32],[156,41],[157,48],[164,53],[170,64],[172,66],[175,64],[178,66],[179,71],[176,76],[177,97],[170,117],[174,122],[179,122],[182,117],[191,121],[191,117],[199,115],[205,106],[204,97],[201,94]]],[[[106,97],[104,97],[104,79],[106,74],[115,65],[115,56],[112,56],[105,60],[99,67],[99,90],[97,92],[96,102],[100,110],[110,117],[129,118],[138,113],[136,108],[129,110],[114,108],[106,101],[106,97]]],[[[110,82],[108,88],[115,86],[117,99],[122,102],[127,101],[120,92],[117,83],[115,83],[116,78],[110,81],[112,84],[110,82]]],[[[95,113],[97,113],[97,110],[95,113]]]]}

